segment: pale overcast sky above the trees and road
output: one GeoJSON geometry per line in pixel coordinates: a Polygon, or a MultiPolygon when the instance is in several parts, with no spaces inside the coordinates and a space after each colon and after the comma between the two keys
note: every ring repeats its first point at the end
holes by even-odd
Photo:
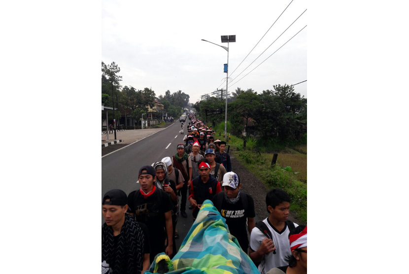
{"type": "MultiPolygon", "coordinates": [[[[307,80],[306,9],[297,0],[103,0],[102,61],[118,64],[122,86],[152,88],[156,96],[181,90],[196,103],[201,95],[226,89],[227,51],[202,39],[227,47],[221,35],[236,35],[229,43],[229,93],[297,84],[307,80]]],[[[307,82],[294,88],[307,98],[307,82]]]]}

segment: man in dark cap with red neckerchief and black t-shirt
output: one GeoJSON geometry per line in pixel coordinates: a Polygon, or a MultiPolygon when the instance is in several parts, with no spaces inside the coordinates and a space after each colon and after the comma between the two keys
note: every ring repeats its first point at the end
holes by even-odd
{"type": "Polygon", "coordinates": [[[165,252],[172,256],[172,209],[173,204],[169,195],[162,189],[156,188],[156,170],[152,166],[143,166],[138,173],[140,189],[128,195],[128,205],[136,220],[146,224],[149,229],[150,261],[158,253],[165,252]],[[165,248],[165,240],[168,246],[165,248]]]}

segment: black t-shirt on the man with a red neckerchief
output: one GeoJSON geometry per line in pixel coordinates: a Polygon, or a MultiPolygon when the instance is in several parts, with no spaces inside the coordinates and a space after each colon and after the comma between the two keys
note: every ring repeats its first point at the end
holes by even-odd
{"type": "Polygon", "coordinates": [[[161,189],[156,189],[145,199],[139,190],[136,190],[128,195],[128,206],[135,214],[136,221],[144,223],[148,228],[151,257],[165,252],[165,213],[173,209],[169,195],[161,189]]]}

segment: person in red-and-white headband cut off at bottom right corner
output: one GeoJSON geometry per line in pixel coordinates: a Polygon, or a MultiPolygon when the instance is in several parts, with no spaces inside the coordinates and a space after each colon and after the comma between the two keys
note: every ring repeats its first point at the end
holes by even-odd
{"type": "Polygon", "coordinates": [[[288,236],[291,255],[288,266],[273,268],[267,274],[307,274],[307,226],[298,226],[288,236]]]}

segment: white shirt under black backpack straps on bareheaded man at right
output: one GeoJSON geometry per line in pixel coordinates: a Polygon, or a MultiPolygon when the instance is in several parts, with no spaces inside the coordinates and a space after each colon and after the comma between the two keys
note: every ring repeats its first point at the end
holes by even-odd
{"type": "MultiPolygon", "coordinates": [[[[288,240],[288,234],[290,234],[290,230],[288,229],[288,226],[286,225],[284,230],[280,234],[269,224],[268,218],[263,220],[263,222],[267,225],[273,236],[273,243],[275,245],[276,254],[270,252],[264,255],[264,258],[261,260],[260,265],[258,266],[258,270],[261,274],[265,274],[272,268],[288,265],[288,263],[285,261],[285,257],[291,255],[290,240],[288,240]]],[[[294,226],[298,227],[296,223],[294,223],[294,226]]],[[[256,227],[253,228],[250,235],[250,248],[253,251],[257,251],[264,238],[266,238],[266,236],[263,232],[261,232],[256,227]]]]}

